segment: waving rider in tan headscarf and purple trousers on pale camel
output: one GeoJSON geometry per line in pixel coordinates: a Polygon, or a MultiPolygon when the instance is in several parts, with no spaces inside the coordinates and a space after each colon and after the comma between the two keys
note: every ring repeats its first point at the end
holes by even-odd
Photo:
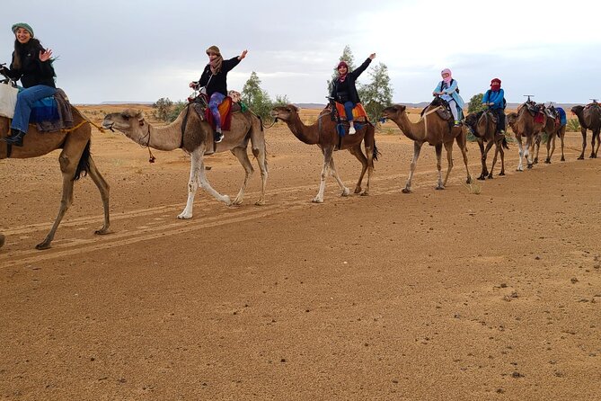
{"type": "Polygon", "coordinates": [[[246,57],[248,50],[244,50],[238,57],[224,60],[217,46],[207,49],[208,65],[205,67],[199,82],[190,82],[190,88],[205,87],[208,96],[208,108],[213,114],[216,125],[215,141],[221,142],[224,134],[221,132],[221,116],[217,107],[227,96],[227,73],[246,57]]]}

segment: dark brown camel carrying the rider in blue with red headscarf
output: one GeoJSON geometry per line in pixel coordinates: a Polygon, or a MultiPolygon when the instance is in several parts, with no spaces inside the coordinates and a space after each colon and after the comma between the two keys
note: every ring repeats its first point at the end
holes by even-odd
{"type": "Polygon", "coordinates": [[[509,147],[505,135],[496,135],[497,123],[493,119],[494,115],[488,110],[472,113],[465,117],[465,126],[476,137],[482,156],[482,173],[478,177],[478,180],[485,180],[487,177],[492,178],[492,170],[494,170],[495,163],[497,163],[497,155],[499,153],[501,157],[501,171],[499,175],[505,175],[505,151],[503,147],[506,149],[509,147]],[[484,142],[488,142],[486,148],[484,148],[484,142]],[[492,158],[491,172],[489,173],[486,167],[486,157],[492,145],[495,145],[495,156],[492,158]]]}

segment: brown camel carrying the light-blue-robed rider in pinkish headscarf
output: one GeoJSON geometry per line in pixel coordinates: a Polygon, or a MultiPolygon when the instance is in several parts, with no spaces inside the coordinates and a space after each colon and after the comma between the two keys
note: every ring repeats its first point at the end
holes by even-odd
{"type": "MultiPolygon", "coordinates": [[[[435,99],[436,101],[436,99],[435,99]]],[[[446,181],[448,180],[451,169],[453,168],[453,141],[456,140],[457,146],[461,150],[461,154],[464,156],[465,172],[467,173],[467,183],[472,183],[472,176],[467,166],[467,148],[466,148],[466,134],[463,127],[450,127],[448,122],[441,118],[436,111],[440,110],[442,106],[437,105],[436,102],[432,102],[424,111],[423,116],[418,122],[411,122],[407,116],[406,107],[401,104],[394,104],[391,107],[387,107],[382,111],[384,119],[393,120],[396,125],[402,130],[405,137],[413,140],[413,159],[411,160],[411,170],[409,172],[409,178],[405,187],[402,189],[403,193],[411,192],[411,179],[415,174],[415,167],[420,157],[421,147],[424,143],[434,146],[436,149],[437,156],[437,170],[438,170],[438,181],[437,190],[444,190],[446,181]],[[445,181],[442,181],[441,172],[441,158],[442,158],[442,147],[446,148],[446,160],[448,167],[446,169],[445,181]]]]}

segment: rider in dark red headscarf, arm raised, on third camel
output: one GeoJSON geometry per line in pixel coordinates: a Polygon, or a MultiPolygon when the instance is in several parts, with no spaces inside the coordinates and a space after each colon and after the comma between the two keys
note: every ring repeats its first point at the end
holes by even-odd
{"type": "Polygon", "coordinates": [[[376,58],[376,53],[372,53],[369,57],[354,71],[349,71],[349,65],[345,61],[340,61],[336,71],[338,77],[331,83],[331,94],[330,96],[344,104],[344,112],[347,115],[349,121],[349,135],[353,135],[357,130],[355,129],[355,123],[353,121],[353,109],[360,103],[359,94],[355,82],[358,76],[367,69],[371,60],[376,58]]]}

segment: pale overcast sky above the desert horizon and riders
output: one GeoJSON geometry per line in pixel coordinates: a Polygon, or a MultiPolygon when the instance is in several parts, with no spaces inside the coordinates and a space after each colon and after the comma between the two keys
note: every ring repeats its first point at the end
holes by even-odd
{"type": "MultiPolygon", "coordinates": [[[[217,45],[248,55],[228,75],[242,91],[255,71],[272,98],[324,102],[349,45],[358,66],[389,69],[394,102],[429,101],[440,70],[467,102],[503,81],[508,102],[601,98],[601,2],[476,0],[272,2],[253,0],[3,0],[0,62],[10,63],[14,22],[28,22],[57,57],[71,102],[183,100],[217,45]]],[[[367,83],[364,73],[360,83],[367,83]]]]}

